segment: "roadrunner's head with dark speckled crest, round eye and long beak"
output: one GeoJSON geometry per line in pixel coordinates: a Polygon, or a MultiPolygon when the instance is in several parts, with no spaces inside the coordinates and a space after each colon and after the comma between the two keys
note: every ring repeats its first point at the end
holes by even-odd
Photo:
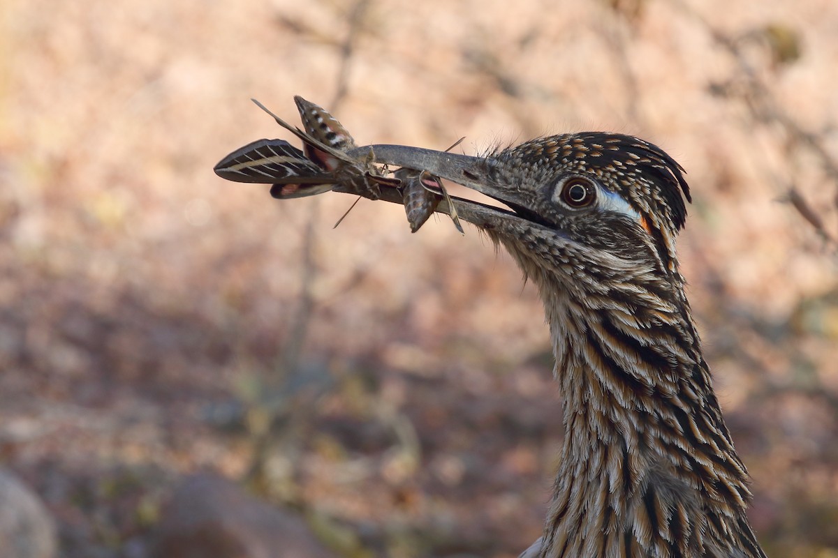
{"type": "Polygon", "coordinates": [[[458,200],[461,217],[503,243],[522,269],[569,275],[579,266],[680,279],[675,236],[690,191],[681,167],[632,136],[583,132],[528,141],[485,157],[375,146],[393,164],[422,168],[509,209],[458,200]]]}

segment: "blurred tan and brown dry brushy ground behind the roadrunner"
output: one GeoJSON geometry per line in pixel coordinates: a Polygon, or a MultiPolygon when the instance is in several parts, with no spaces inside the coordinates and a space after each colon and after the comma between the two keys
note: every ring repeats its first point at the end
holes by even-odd
{"type": "Polygon", "coordinates": [[[836,28],[831,0],[4,0],[0,465],[67,558],[187,555],[159,539],[196,472],[336,556],[540,535],[561,393],[535,289],[447,218],[362,200],[333,228],[352,197],[215,177],[292,139],[250,98],[297,122],[298,94],[360,144],[596,129],[674,156],[753,525],[838,556],[836,28]]]}

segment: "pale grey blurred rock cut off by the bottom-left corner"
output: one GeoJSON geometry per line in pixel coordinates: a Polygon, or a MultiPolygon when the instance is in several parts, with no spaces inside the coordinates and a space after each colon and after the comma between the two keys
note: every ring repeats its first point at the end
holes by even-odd
{"type": "Polygon", "coordinates": [[[52,558],[55,525],[40,499],[8,471],[0,470],[0,550],[3,558],[52,558]]]}

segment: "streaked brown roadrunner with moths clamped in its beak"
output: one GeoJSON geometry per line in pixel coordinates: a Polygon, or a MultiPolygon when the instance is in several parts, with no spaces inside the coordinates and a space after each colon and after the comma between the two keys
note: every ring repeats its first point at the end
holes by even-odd
{"type": "MultiPolygon", "coordinates": [[[[508,207],[450,202],[541,294],[565,438],[544,535],[522,556],[764,556],[675,254],[690,200],[681,167],[650,143],[598,132],[483,157],[372,150],[508,207]]],[[[391,187],[380,197],[403,202],[391,187]]]]}

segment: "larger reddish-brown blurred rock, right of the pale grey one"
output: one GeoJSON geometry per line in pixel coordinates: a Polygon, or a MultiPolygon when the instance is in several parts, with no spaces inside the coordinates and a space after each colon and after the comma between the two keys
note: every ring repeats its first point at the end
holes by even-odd
{"type": "Polygon", "coordinates": [[[153,558],[337,558],[297,515],[276,509],[214,475],[175,489],[158,528],[153,558]]]}

